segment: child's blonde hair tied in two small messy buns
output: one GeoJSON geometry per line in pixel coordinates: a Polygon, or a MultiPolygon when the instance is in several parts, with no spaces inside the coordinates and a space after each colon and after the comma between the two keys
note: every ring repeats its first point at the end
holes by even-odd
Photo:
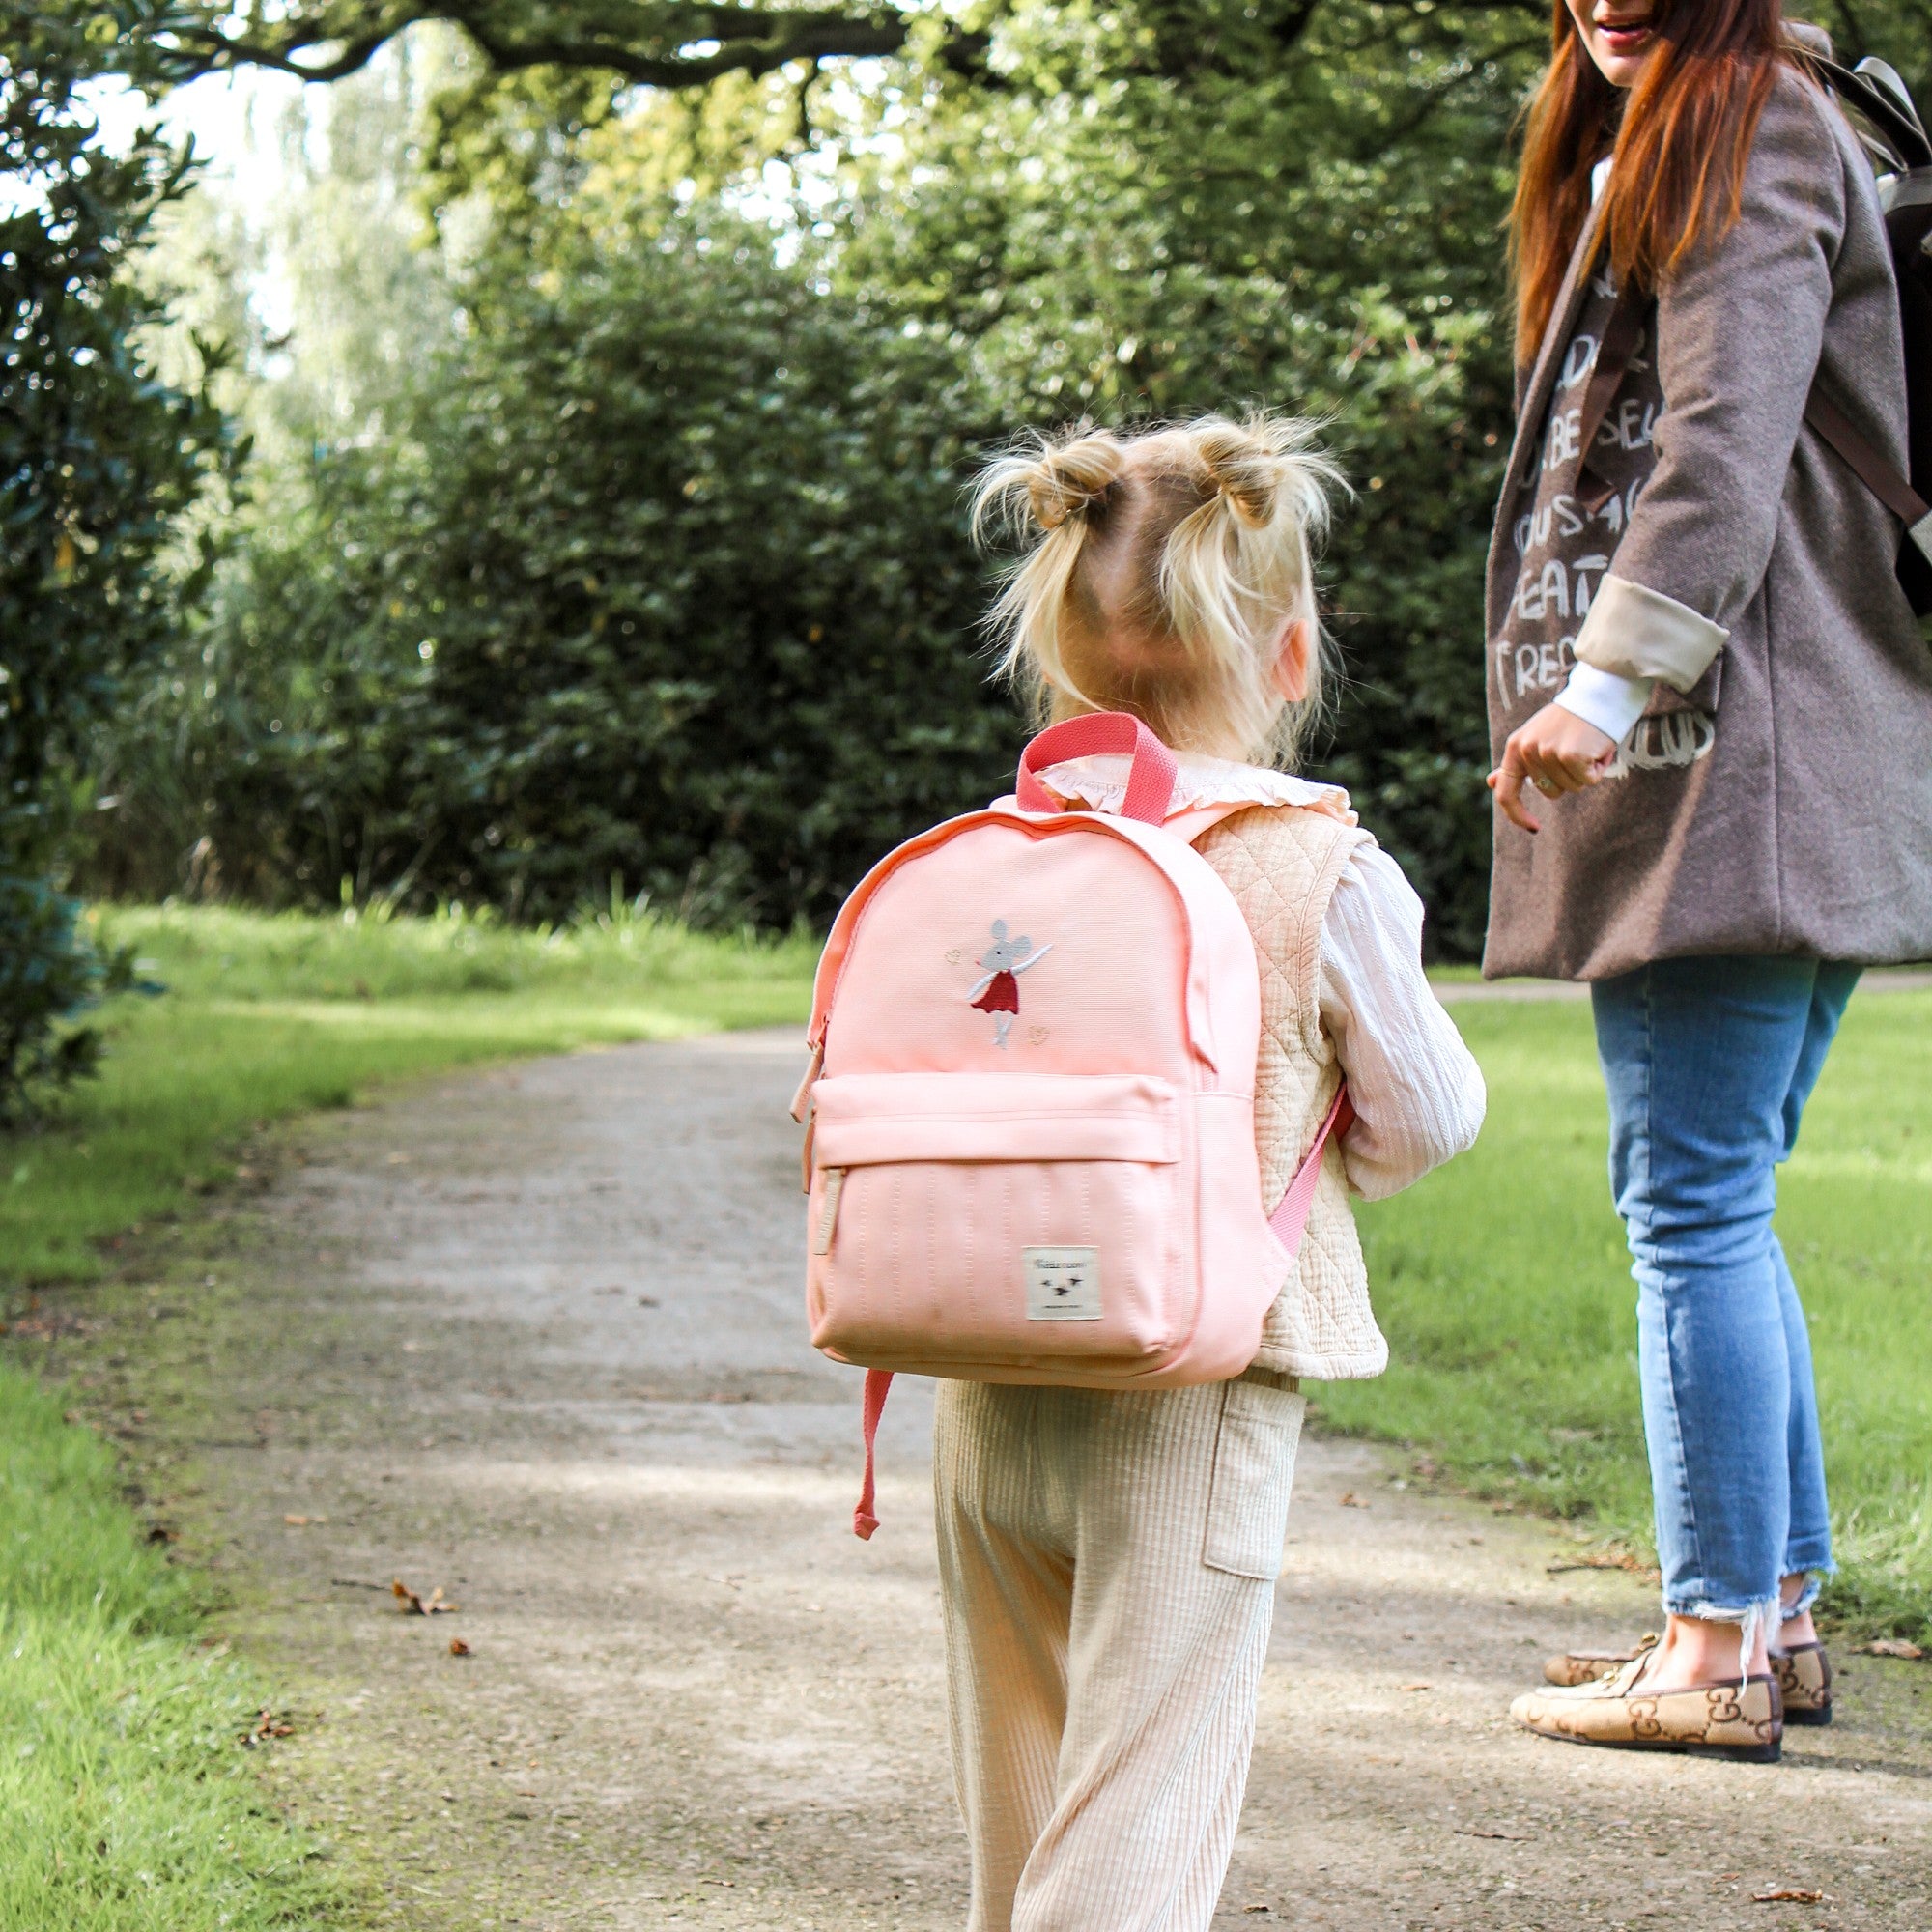
{"type": "Polygon", "coordinates": [[[1320,713],[1314,547],[1347,489],[1314,425],[1254,413],[1117,437],[1072,429],[995,458],[974,535],[1024,551],[987,618],[1043,719],[1130,711],[1177,752],[1289,763],[1320,713]],[[1308,692],[1277,684],[1308,626],[1308,692]]]}

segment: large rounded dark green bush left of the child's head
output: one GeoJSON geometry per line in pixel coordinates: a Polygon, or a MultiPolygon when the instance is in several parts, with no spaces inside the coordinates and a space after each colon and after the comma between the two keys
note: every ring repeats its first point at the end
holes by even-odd
{"type": "Polygon", "coordinates": [[[464,294],[384,435],[251,526],[124,744],[155,810],[106,883],[172,887],[205,838],[270,902],[556,914],[620,875],[782,923],[997,786],[956,357],[715,211],[464,294]]]}

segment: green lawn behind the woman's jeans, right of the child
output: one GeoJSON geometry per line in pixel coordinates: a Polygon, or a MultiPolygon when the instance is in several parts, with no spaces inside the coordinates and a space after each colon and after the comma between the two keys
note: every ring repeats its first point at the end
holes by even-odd
{"type": "MultiPolygon", "coordinates": [[[[1480,1493],[1650,1551],[1636,1291],[1605,1179],[1590,1010],[1455,1009],[1490,1080],[1476,1150],[1362,1211],[1391,1368],[1331,1426],[1405,1441],[1480,1493]]],[[[1861,995],[1783,1171],[1843,1578],[1861,1629],[1932,1636],[1932,997],[1861,995]]]]}

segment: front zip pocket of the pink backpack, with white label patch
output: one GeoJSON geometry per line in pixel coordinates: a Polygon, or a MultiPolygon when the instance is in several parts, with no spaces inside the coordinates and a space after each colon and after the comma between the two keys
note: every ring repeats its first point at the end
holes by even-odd
{"type": "Polygon", "coordinates": [[[1194,1321],[1182,1095],[1144,1074],[813,1090],[811,1341],[873,1366],[1130,1376],[1194,1321]]]}

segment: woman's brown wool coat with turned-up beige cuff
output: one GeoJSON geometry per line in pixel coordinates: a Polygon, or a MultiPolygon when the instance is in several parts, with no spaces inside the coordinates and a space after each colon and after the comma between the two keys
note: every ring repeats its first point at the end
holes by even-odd
{"type": "MultiPolygon", "coordinates": [[[[1519,384],[1492,647],[1594,253],[1592,216],[1519,384]]],[[[1714,730],[1694,761],[1532,794],[1534,837],[1497,817],[1484,972],[1598,980],[1698,952],[1928,958],[1932,653],[1893,578],[1897,520],[1803,421],[1818,383],[1903,466],[1897,296],[1870,164],[1797,71],[1766,106],[1741,218],[1658,292],[1654,350],[1656,468],[1575,655],[1698,688],[1714,730]]],[[[1495,717],[1492,734],[1499,759],[1495,717]]]]}

